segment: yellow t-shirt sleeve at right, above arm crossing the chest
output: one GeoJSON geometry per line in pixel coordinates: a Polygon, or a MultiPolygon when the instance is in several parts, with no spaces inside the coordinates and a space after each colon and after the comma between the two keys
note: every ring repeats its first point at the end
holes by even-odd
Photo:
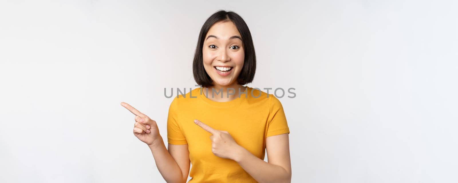
{"type": "Polygon", "coordinates": [[[270,98],[270,113],[267,118],[267,135],[280,135],[280,134],[289,134],[289,127],[286,121],[286,116],[283,111],[282,103],[272,94],[269,94],[270,98]]]}

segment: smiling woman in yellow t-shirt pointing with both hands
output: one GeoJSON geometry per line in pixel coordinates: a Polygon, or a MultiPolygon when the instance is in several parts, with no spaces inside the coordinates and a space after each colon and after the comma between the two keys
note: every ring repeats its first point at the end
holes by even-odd
{"type": "Polygon", "coordinates": [[[218,11],[202,26],[194,55],[194,79],[202,88],[170,104],[168,150],[156,121],[121,102],[136,115],[134,135],[149,146],[168,183],[185,183],[188,174],[190,183],[291,182],[289,128],[280,101],[242,86],[253,81],[255,70],[245,21],[218,11]]]}

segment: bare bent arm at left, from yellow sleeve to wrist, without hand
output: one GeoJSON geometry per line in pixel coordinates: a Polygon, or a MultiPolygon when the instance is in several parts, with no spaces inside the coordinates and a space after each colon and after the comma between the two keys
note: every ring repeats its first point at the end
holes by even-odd
{"type": "Polygon", "coordinates": [[[190,167],[188,145],[169,144],[167,150],[162,138],[158,138],[157,141],[148,146],[164,180],[167,183],[186,183],[190,167]]]}

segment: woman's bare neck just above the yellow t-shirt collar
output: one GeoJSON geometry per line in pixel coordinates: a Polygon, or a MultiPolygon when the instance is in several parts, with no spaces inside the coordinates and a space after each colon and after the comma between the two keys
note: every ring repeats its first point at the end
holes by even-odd
{"type": "Polygon", "coordinates": [[[204,87],[203,94],[207,96],[208,93],[207,98],[216,102],[228,102],[239,97],[239,90],[240,92],[245,92],[245,86],[236,83],[229,86],[221,86],[215,84],[214,86],[210,86],[208,88],[204,87]],[[228,92],[230,94],[229,96],[228,92]]]}

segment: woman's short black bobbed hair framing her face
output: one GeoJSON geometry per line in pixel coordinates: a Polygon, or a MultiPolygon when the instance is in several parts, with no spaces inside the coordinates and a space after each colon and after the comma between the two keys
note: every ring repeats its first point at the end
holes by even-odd
{"type": "Polygon", "coordinates": [[[225,21],[231,21],[234,23],[235,27],[237,27],[237,30],[240,32],[240,36],[242,37],[243,48],[245,51],[244,64],[242,70],[240,71],[240,75],[237,77],[238,84],[245,85],[247,83],[251,83],[255,77],[256,54],[250,29],[248,29],[245,21],[237,13],[233,11],[220,10],[208,17],[207,21],[205,21],[201,28],[199,39],[197,40],[196,52],[194,53],[194,60],[192,62],[192,72],[194,74],[194,80],[196,80],[197,84],[202,87],[213,86],[213,80],[207,74],[203,66],[202,47],[205,36],[213,24],[225,21]]]}

